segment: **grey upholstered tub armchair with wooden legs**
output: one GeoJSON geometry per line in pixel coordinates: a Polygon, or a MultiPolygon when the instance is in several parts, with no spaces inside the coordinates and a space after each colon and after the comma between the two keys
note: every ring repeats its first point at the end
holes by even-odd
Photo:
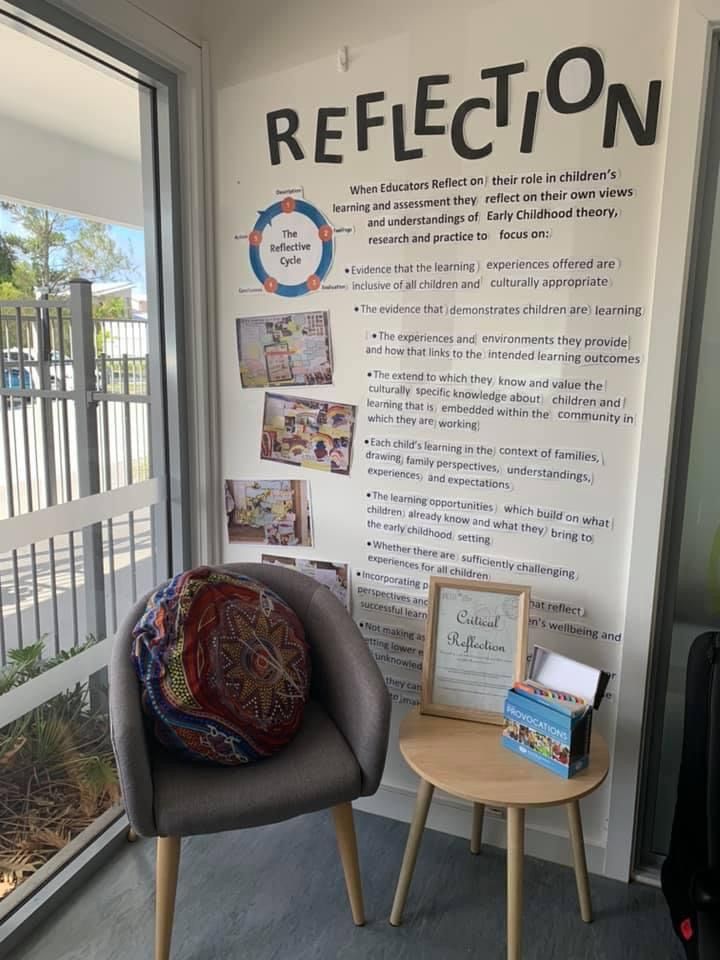
{"type": "Polygon", "coordinates": [[[272,757],[241,768],[182,760],[148,735],[130,660],[132,629],[147,596],[120,627],[110,663],[110,720],[130,825],[157,837],[155,960],[170,956],[182,837],[314,810],[332,810],[353,920],[365,922],[351,802],[375,793],[382,776],[390,718],[383,678],[347,611],[324,586],[271,564],[223,569],[267,584],[296,612],[310,645],[311,699],[295,738],[272,757]]]}

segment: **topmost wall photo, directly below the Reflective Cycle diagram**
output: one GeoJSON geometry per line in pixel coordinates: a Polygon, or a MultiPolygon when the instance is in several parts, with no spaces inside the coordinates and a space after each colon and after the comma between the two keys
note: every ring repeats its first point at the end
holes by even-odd
{"type": "Polygon", "coordinates": [[[243,387],[332,383],[327,311],[238,317],[236,323],[243,387]]]}

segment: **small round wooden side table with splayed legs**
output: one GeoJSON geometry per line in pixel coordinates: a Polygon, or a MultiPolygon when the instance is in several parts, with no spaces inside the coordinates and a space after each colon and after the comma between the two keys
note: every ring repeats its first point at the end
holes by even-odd
{"type": "Polygon", "coordinates": [[[580,914],[592,920],[585,844],[578,800],[596,790],[608,772],[608,750],[593,734],[590,765],[572,777],[561,777],[511,753],[501,743],[502,728],[467,720],[423,716],[413,710],[400,726],[400,750],[420,777],[415,814],[398,878],[390,923],[402,921],[435,787],[473,803],[470,849],[480,852],[485,804],[507,808],[507,957],[520,960],[522,880],[527,807],[564,804],[568,812],[580,914]]]}

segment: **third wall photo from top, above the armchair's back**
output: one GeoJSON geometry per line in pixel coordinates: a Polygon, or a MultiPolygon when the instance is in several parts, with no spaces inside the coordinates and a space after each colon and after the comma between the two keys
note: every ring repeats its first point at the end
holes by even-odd
{"type": "Polygon", "coordinates": [[[226,480],[225,514],[230,543],[313,544],[305,480],[226,480]]]}

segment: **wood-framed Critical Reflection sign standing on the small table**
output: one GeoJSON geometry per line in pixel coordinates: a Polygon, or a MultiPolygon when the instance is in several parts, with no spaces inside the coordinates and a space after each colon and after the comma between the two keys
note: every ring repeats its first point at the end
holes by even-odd
{"type": "Polygon", "coordinates": [[[529,587],[431,577],[420,712],[501,724],[525,679],[529,609],[529,587]]]}

